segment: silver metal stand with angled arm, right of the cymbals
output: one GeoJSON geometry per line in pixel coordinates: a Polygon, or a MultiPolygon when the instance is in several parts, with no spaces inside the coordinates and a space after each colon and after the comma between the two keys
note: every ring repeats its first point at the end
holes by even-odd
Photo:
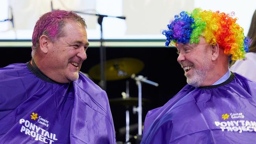
{"type": "Polygon", "coordinates": [[[138,137],[142,136],[142,105],[141,105],[141,101],[142,101],[142,92],[141,92],[141,82],[143,83],[147,83],[150,85],[154,85],[155,87],[158,87],[158,83],[155,83],[153,81],[147,80],[146,77],[144,76],[135,76],[135,74],[132,74],[131,76],[132,79],[134,79],[136,81],[136,84],[138,86],[138,107],[135,109],[138,112],[138,137]]]}

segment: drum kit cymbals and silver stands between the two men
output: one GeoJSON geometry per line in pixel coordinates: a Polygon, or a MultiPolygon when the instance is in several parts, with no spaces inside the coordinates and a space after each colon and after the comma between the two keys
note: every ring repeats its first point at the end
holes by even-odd
{"type": "MultiPolygon", "coordinates": [[[[144,63],[136,58],[131,57],[124,57],[124,58],[117,58],[117,59],[110,59],[107,60],[105,63],[105,76],[107,81],[115,81],[121,79],[132,78],[135,80],[135,83],[138,87],[138,97],[130,97],[129,95],[129,81],[126,81],[126,92],[122,92],[121,98],[112,98],[109,99],[110,105],[122,105],[126,108],[126,127],[125,127],[125,143],[131,144],[130,142],[130,112],[129,107],[133,107],[133,113],[138,113],[138,124],[135,126],[138,129],[138,133],[135,136],[137,138],[137,142],[142,138],[142,105],[149,103],[148,99],[142,98],[141,92],[141,82],[147,83],[153,86],[158,86],[158,83],[148,80],[144,76],[136,76],[143,70],[144,63]]],[[[89,70],[89,76],[93,79],[100,80],[101,73],[100,73],[100,64],[93,66],[89,70]]],[[[134,126],[132,126],[134,127],[134,126]]]]}

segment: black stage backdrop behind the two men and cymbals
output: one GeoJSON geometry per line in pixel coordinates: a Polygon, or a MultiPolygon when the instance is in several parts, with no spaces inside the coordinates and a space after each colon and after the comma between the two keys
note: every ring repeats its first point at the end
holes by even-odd
{"type": "MultiPolygon", "coordinates": [[[[184,71],[176,61],[178,55],[175,48],[157,47],[107,47],[106,59],[116,59],[122,57],[133,57],[140,59],[145,64],[139,75],[147,77],[149,80],[159,83],[159,87],[154,87],[142,83],[142,97],[150,100],[150,103],[143,105],[143,122],[147,111],[164,105],[170,98],[179,92],[186,85],[184,71]]],[[[12,63],[26,63],[31,59],[31,48],[29,47],[9,47],[0,48],[0,67],[12,63]]],[[[83,62],[81,71],[88,73],[89,69],[100,63],[99,48],[93,47],[87,50],[87,59],[83,62]]],[[[93,80],[96,84],[99,81],[93,80]]],[[[126,81],[129,81],[130,96],[137,97],[138,89],[135,81],[131,78],[107,81],[108,98],[121,98],[121,92],[126,91],[126,81]]],[[[110,105],[115,125],[117,141],[125,141],[125,111],[126,108],[120,105],[110,105]]],[[[137,114],[130,110],[130,134],[137,134],[137,114]]]]}

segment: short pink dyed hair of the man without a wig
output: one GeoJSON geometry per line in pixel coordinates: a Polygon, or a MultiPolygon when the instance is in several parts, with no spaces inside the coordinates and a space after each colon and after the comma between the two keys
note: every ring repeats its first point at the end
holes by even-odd
{"type": "Polygon", "coordinates": [[[32,35],[32,50],[39,46],[39,38],[46,35],[51,41],[56,41],[59,37],[65,35],[63,27],[67,20],[74,20],[86,27],[82,17],[72,11],[50,11],[42,15],[37,20],[32,35]]]}

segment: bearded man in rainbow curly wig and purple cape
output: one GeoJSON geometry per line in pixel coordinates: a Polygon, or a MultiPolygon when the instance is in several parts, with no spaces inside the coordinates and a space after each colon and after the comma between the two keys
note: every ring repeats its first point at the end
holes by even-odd
{"type": "Polygon", "coordinates": [[[141,144],[256,143],[256,83],[228,68],[250,45],[232,16],[182,11],[163,31],[188,85],[147,113],[141,144]]]}

